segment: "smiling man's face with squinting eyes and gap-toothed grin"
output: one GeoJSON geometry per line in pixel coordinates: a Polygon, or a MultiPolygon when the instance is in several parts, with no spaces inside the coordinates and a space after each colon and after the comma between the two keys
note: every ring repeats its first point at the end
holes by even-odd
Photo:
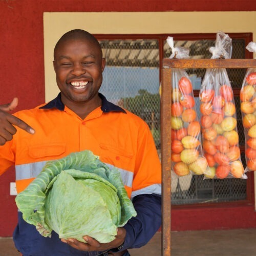
{"type": "Polygon", "coordinates": [[[86,39],[62,42],[54,56],[62,102],[67,106],[88,102],[96,106],[104,66],[101,51],[93,42],[86,39]]]}

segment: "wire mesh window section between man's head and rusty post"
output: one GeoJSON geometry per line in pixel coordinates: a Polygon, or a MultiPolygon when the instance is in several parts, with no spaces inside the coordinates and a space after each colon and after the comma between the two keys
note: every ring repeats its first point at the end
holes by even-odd
{"type": "Polygon", "coordinates": [[[100,92],[140,116],[160,148],[158,40],[101,40],[106,68],[100,92]]]}

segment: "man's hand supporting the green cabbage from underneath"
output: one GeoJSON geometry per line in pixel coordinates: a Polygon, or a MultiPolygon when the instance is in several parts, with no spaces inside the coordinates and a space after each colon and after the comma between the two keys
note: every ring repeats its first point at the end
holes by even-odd
{"type": "Polygon", "coordinates": [[[83,237],[86,243],[80,242],[74,238],[61,239],[61,241],[81,251],[106,251],[122,245],[124,242],[125,236],[126,236],[126,230],[123,227],[119,227],[117,228],[116,238],[112,242],[106,243],[106,244],[101,244],[97,240],[88,236],[83,237]]]}

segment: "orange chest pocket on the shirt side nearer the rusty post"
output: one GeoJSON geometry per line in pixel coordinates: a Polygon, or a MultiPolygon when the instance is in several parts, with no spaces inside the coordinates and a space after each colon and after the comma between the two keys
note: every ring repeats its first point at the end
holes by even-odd
{"type": "Polygon", "coordinates": [[[122,148],[114,147],[110,144],[100,145],[100,160],[105,163],[112,164],[118,168],[130,170],[134,169],[134,154],[123,150],[122,148]]]}

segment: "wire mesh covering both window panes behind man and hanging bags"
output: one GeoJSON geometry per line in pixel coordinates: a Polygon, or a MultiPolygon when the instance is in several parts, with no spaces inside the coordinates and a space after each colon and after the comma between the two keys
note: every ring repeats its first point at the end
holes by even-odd
{"type": "MultiPolygon", "coordinates": [[[[172,53],[166,41],[159,50],[158,39],[100,40],[106,58],[103,83],[100,92],[117,105],[137,114],[150,126],[160,155],[160,98],[159,98],[159,51],[169,57],[172,53]]],[[[191,58],[209,59],[209,47],[215,40],[178,40],[175,47],[189,48],[191,58]]],[[[232,58],[245,57],[245,41],[232,40],[232,58]]],[[[205,70],[186,70],[194,90],[200,90],[205,70]]],[[[234,90],[242,86],[244,69],[227,70],[234,90]]],[[[237,94],[238,95],[238,94],[237,94]]],[[[237,108],[240,145],[244,145],[240,99],[235,97],[237,108]]],[[[199,99],[196,109],[200,118],[199,99]]],[[[241,155],[245,165],[244,153],[241,155]]],[[[172,175],[172,204],[193,204],[206,202],[226,202],[246,199],[246,180],[243,179],[203,179],[202,176],[172,175]]]]}

